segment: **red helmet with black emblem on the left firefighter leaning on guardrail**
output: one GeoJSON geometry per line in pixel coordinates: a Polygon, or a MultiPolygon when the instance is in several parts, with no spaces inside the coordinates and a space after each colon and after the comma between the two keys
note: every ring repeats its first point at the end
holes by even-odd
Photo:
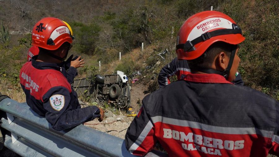
{"type": "Polygon", "coordinates": [[[32,44],[47,50],[56,50],[64,42],[73,42],[67,24],[53,17],[46,17],[35,24],[32,31],[32,44]]]}

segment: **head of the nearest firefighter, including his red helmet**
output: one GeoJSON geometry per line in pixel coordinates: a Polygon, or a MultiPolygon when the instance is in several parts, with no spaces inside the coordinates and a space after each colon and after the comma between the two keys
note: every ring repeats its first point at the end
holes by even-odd
{"type": "Polygon", "coordinates": [[[218,11],[203,11],[189,17],[179,29],[176,54],[178,59],[188,60],[192,72],[215,73],[231,80],[229,75],[232,75],[230,70],[237,53],[237,44],[244,40],[241,29],[228,15],[218,11]],[[224,52],[222,56],[219,55],[221,66],[211,66],[221,52],[224,52]]]}

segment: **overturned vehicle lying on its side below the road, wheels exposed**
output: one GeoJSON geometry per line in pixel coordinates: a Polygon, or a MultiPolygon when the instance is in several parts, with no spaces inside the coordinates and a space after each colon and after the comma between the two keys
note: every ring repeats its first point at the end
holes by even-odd
{"type": "Polygon", "coordinates": [[[91,101],[101,104],[107,102],[121,109],[127,109],[130,106],[128,77],[121,71],[112,75],[95,75],[95,78],[75,79],[73,89],[79,96],[86,96],[91,98],[91,101]]]}

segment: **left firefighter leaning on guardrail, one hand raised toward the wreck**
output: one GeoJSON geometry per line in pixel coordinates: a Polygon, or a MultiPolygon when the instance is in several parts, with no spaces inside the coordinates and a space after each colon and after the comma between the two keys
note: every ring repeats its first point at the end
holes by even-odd
{"type": "MultiPolygon", "coordinates": [[[[38,46],[39,54],[20,70],[20,85],[29,107],[45,116],[55,130],[69,129],[99,118],[104,111],[96,106],[81,108],[78,95],[66,79],[63,61],[71,43],[72,32],[64,21],[47,17],[38,21],[32,31],[32,44],[38,46]]],[[[75,62],[81,67],[80,57],[75,62]]]]}

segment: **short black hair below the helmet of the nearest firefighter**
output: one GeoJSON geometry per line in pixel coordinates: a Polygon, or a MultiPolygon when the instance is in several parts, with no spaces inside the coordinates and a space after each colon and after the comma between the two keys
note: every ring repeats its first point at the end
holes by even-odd
{"type": "MultiPolygon", "coordinates": [[[[231,56],[232,49],[235,47],[235,45],[228,44],[223,41],[217,41],[210,45],[204,54],[202,54],[197,59],[188,60],[188,64],[190,69],[196,69],[196,68],[210,68],[212,63],[214,62],[214,59],[217,55],[219,55],[220,52],[224,52],[229,57],[231,56]]],[[[187,52],[186,52],[187,53],[187,52]]]]}

